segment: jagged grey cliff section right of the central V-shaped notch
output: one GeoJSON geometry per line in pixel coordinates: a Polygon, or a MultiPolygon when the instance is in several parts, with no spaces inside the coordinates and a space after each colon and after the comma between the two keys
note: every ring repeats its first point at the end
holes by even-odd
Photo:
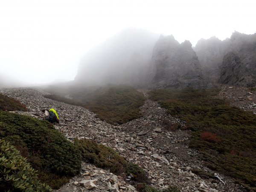
{"type": "Polygon", "coordinates": [[[210,81],[256,86],[256,34],[234,32],[224,41],[201,39],[194,50],[210,81]]]}

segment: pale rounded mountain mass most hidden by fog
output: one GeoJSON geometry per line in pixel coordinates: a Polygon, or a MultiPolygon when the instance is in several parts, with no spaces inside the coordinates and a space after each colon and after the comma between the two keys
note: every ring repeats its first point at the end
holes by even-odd
{"type": "Polygon", "coordinates": [[[143,29],[125,29],[90,50],[79,64],[75,81],[83,84],[148,82],[149,62],[159,35],[143,29]]]}

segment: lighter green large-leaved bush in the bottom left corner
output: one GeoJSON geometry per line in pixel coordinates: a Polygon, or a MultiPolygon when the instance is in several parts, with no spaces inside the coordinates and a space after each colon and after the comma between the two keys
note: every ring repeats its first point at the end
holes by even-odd
{"type": "Polygon", "coordinates": [[[36,171],[20,152],[4,140],[0,140],[0,189],[6,192],[52,191],[38,180],[36,171]]]}

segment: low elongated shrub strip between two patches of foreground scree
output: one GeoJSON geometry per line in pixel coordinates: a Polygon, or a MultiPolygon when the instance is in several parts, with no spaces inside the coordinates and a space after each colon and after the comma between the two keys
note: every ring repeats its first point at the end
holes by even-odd
{"type": "Polygon", "coordinates": [[[134,163],[128,163],[112,148],[97,144],[93,140],[74,140],[74,145],[81,150],[82,158],[102,169],[110,169],[116,175],[132,174],[137,182],[148,182],[143,168],[134,163]]]}

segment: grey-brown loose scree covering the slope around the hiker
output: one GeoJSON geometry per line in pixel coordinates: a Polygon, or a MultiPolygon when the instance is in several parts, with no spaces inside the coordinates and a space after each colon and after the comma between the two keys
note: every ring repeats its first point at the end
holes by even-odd
{"type": "MultiPolygon", "coordinates": [[[[146,90],[139,91],[147,97],[146,90]]],[[[214,172],[215,179],[203,179],[192,172],[195,168],[212,171],[198,159],[198,151],[188,148],[188,132],[172,128],[172,125],[183,125],[184,122],[168,115],[157,102],[146,99],[140,107],[142,117],[115,126],[97,119],[85,108],[44,98],[47,93],[39,89],[9,88],[1,89],[0,93],[26,105],[27,112],[15,113],[41,118],[42,109],[54,108],[60,118],[55,128],[67,140],[72,142],[76,137],[92,139],[113,148],[127,161],[143,167],[151,185],[157,189],[177,186],[181,192],[244,191],[230,177],[218,172],[214,172]]],[[[136,191],[129,183],[129,177],[122,178],[83,162],[81,173],[55,192],[136,191]]]]}

